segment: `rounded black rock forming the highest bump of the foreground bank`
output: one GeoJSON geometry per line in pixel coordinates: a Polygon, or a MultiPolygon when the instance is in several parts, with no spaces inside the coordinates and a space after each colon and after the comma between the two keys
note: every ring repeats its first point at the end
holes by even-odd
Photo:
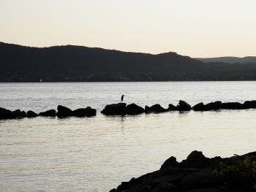
{"type": "Polygon", "coordinates": [[[194,150],[187,156],[187,159],[181,161],[180,166],[192,167],[192,168],[205,168],[209,166],[210,161],[203,155],[202,152],[194,150]]]}

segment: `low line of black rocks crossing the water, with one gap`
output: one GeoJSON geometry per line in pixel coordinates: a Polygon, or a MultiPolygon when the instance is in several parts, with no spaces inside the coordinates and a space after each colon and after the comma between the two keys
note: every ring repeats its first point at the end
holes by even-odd
{"type": "MultiPolygon", "coordinates": [[[[225,102],[222,101],[214,101],[208,104],[203,104],[200,102],[195,104],[195,106],[191,106],[186,101],[180,100],[178,104],[174,106],[173,104],[169,104],[168,108],[165,109],[160,104],[154,104],[151,107],[147,105],[143,108],[138,106],[137,104],[126,104],[126,103],[118,103],[118,104],[108,104],[101,111],[104,115],[140,115],[142,113],[160,113],[160,112],[169,112],[169,111],[212,111],[212,110],[247,110],[247,109],[256,109],[256,101],[245,101],[244,104],[239,102],[225,102]]],[[[59,105],[56,110],[48,110],[45,112],[33,112],[29,110],[28,112],[21,110],[7,110],[0,107],[0,119],[15,119],[15,118],[35,118],[38,116],[42,117],[58,117],[58,118],[67,118],[67,117],[91,117],[97,115],[97,110],[86,107],[79,108],[78,110],[70,110],[67,107],[59,105]]]]}

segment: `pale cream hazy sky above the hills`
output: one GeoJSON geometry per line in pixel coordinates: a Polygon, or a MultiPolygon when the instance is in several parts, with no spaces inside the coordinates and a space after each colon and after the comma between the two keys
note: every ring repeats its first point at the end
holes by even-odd
{"type": "Polygon", "coordinates": [[[0,0],[0,42],[256,55],[256,1],[0,0]]]}

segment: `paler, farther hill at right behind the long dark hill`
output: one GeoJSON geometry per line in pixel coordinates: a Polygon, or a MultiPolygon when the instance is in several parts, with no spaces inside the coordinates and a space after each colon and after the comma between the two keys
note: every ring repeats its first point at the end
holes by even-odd
{"type": "Polygon", "coordinates": [[[256,57],[219,57],[219,58],[195,58],[205,63],[222,62],[227,64],[256,64],[256,57]]]}

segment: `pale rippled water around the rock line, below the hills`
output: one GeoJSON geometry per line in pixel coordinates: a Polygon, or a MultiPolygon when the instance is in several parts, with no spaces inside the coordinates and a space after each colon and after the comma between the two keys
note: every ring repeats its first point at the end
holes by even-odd
{"type": "Polygon", "coordinates": [[[208,157],[256,150],[256,110],[166,112],[106,117],[105,104],[190,104],[255,99],[256,82],[1,83],[0,107],[73,110],[91,106],[94,118],[0,121],[1,191],[109,191],[192,150],[208,157]]]}

